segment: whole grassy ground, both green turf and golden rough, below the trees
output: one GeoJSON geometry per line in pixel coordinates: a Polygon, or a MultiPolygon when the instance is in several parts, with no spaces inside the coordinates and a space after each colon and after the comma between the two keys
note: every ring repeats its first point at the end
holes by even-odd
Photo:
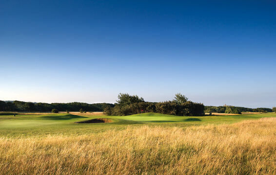
{"type": "Polygon", "coordinates": [[[275,117],[0,116],[0,175],[275,175],[275,117]]]}

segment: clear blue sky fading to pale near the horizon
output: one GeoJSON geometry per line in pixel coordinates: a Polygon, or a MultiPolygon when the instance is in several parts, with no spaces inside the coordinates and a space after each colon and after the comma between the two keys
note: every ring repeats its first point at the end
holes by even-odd
{"type": "Polygon", "coordinates": [[[275,0],[0,0],[0,100],[276,106],[275,0]]]}

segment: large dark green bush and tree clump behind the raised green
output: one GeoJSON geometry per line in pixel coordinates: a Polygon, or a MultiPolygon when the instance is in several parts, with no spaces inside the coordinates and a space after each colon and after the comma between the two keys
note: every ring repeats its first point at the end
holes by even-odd
{"type": "Polygon", "coordinates": [[[175,100],[166,102],[144,102],[137,95],[118,95],[118,104],[115,107],[108,106],[104,109],[106,115],[125,116],[146,112],[157,112],[161,114],[178,116],[201,116],[204,115],[204,105],[188,101],[188,98],[176,94],[175,100]]]}

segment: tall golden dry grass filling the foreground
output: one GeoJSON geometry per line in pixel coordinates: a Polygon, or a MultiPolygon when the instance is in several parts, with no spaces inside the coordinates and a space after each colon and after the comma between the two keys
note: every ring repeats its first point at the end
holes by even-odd
{"type": "Polygon", "coordinates": [[[1,175],[276,174],[276,118],[0,139],[1,175]]]}

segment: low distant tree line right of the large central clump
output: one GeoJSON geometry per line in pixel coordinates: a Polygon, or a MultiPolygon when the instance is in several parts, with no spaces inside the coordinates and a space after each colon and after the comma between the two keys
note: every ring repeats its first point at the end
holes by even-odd
{"type": "Polygon", "coordinates": [[[241,112],[272,112],[271,108],[248,108],[248,107],[238,107],[238,106],[204,106],[205,113],[228,113],[228,114],[240,114],[241,112]]]}

